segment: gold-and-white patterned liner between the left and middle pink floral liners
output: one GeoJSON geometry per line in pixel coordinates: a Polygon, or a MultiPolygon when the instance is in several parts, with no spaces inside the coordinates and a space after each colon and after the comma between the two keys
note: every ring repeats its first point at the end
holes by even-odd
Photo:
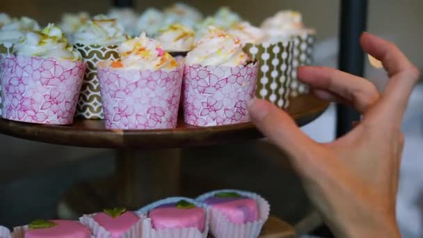
{"type": "Polygon", "coordinates": [[[102,46],[77,43],[74,47],[86,62],[86,72],[83,77],[76,116],[86,119],[104,119],[96,64],[99,61],[118,60],[120,58],[118,45],[102,46]]]}

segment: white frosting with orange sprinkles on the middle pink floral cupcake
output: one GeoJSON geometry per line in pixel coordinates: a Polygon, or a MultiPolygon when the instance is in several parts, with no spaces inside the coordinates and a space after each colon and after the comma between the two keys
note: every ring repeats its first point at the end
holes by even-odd
{"type": "Polygon", "coordinates": [[[138,70],[172,70],[177,61],[163,50],[156,40],[147,38],[145,33],[127,40],[118,47],[120,61],[113,62],[115,68],[135,68],[138,70]]]}

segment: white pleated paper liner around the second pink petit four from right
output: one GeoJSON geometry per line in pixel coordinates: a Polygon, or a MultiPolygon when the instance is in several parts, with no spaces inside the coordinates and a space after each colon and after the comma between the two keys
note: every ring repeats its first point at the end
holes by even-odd
{"type": "Polygon", "coordinates": [[[140,216],[145,216],[146,218],[143,220],[143,238],[207,238],[209,233],[209,209],[203,204],[199,203],[196,200],[191,198],[184,198],[184,197],[173,197],[173,198],[166,198],[163,200],[159,200],[157,202],[151,203],[137,211],[140,216]],[[186,200],[189,203],[193,203],[197,207],[202,207],[206,211],[206,222],[205,222],[205,230],[200,232],[197,228],[168,228],[168,229],[159,229],[156,230],[152,227],[152,221],[148,218],[148,212],[152,209],[159,207],[160,205],[165,205],[169,203],[177,203],[179,200],[186,200]]]}

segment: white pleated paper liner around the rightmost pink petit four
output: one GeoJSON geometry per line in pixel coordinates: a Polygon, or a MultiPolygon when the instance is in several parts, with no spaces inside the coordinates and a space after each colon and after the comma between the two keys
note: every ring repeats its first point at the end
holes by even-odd
{"type": "Polygon", "coordinates": [[[222,212],[219,212],[217,209],[213,209],[209,206],[210,232],[215,238],[257,238],[260,235],[260,231],[262,230],[264,223],[269,218],[270,213],[270,205],[264,198],[262,198],[262,196],[248,191],[224,189],[202,194],[195,200],[202,203],[204,200],[214,196],[216,193],[228,192],[239,193],[241,196],[256,200],[259,206],[259,219],[257,221],[244,224],[231,223],[222,212]]]}

